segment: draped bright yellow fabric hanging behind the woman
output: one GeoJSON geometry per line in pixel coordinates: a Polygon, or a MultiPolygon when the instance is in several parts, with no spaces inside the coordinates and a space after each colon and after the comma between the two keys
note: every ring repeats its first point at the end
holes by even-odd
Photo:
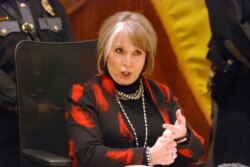
{"type": "Polygon", "coordinates": [[[169,36],[178,66],[201,111],[211,124],[207,90],[210,64],[206,59],[211,32],[204,0],[151,0],[169,36]]]}

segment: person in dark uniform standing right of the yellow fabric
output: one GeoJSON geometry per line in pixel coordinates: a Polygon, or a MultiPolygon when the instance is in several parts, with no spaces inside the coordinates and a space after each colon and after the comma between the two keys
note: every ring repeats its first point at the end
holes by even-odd
{"type": "Polygon", "coordinates": [[[206,4],[216,125],[209,166],[250,166],[250,1],[206,0],[206,4]]]}

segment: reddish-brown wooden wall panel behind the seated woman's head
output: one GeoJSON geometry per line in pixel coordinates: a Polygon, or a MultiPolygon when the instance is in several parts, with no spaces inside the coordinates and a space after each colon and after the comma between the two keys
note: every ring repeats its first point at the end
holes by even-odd
{"type": "MultiPolygon", "coordinates": [[[[70,0],[69,0],[70,1],[70,0]]],[[[153,24],[159,38],[155,70],[151,78],[168,84],[182,105],[187,120],[206,140],[203,159],[208,152],[209,125],[198,107],[187,83],[177,67],[168,36],[149,0],[86,0],[80,9],[71,12],[70,21],[77,40],[95,39],[100,24],[118,11],[136,11],[144,14],[153,24]]]]}

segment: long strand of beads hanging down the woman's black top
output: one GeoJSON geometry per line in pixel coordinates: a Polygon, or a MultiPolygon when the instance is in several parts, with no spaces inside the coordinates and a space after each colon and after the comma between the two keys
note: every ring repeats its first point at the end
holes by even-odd
{"type": "MultiPolygon", "coordinates": [[[[147,113],[146,113],[146,107],[145,107],[145,98],[144,98],[144,89],[143,89],[143,86],[142,86],[143,85],[142,84],[142,80],[140,82],[141,82],[140,88],[141,88],[141,92],[142,92],[141,93],[141,97],[142,97],[142,109],[143,109],[143,117],[144,117],[144,124],[145,124],[145,139],[144,139],[144,145],[143,145],[143,147],[146,148],[147,141],[148,141],[148,120],[147,120],[147,113]]],[[[124,110],[124,108],[123,108],[123,106],[122,106],[119,98],[120,97],[119,97],[118,92],[117,92],[117,94],[116,94],[116,100],[117,100],[117,102],[118,102],[118,104],[119,104],[119,106],[120,106],[120,108],[122,110],[123,115],[125,116],[128,124],[129,124],[130,128],[133,131],[133,134],[135,136],[136,147],[139,147],[138,137],[137,137],[137,133],[135,131],[135,128],[134,128],[133,124],[131,123],[131,121],[130,121],[130,119],[129,119],[127,113],[126,113],[126,111],[124,110]]]]}

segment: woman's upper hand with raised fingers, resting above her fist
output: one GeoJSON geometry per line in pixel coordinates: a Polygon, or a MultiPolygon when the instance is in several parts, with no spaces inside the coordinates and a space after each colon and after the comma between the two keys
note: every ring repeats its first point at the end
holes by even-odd
{"type": "Polygon", "coordinates": [[[175,140],[180,140],[187,136],[186,118],[181,114],[180,109],[176,111],[174,125],[163,124],[163,128],[169,129],[173,133],[175,140]]]}

